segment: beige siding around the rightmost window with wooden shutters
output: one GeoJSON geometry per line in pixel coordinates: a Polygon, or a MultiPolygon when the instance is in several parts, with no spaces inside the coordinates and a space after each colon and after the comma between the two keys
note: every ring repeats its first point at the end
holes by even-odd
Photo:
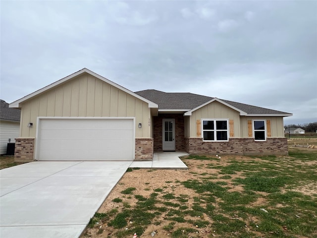
{"type": "Polygon", "coordinates": [[[271,137],[285,137],[283,129],[282,117],[241,117],[240,120],[240,133],[241,137],[248,137],[248,120],[270,120],[271,124],[271,137]]]}

